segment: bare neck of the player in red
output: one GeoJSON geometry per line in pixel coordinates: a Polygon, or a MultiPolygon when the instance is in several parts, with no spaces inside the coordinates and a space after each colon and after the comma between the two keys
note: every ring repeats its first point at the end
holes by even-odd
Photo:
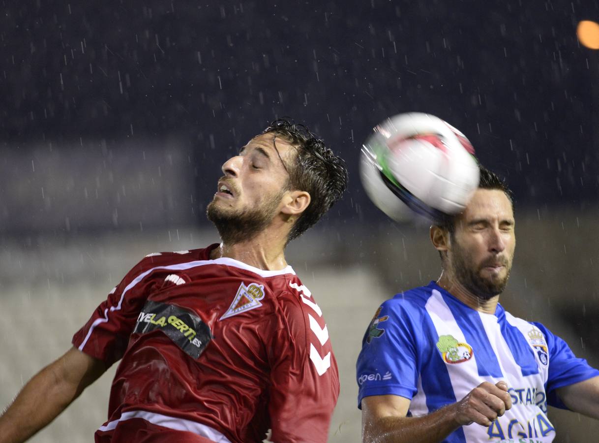
{"type": "Polygon", "coordinates": [[[281,270],[287,266],[285,261],[285,237],[268,234],[264,230],[257,236],[242,242],[220,243],[210,253],[210,258],[228,257],[262,270],[281,270]]]}

